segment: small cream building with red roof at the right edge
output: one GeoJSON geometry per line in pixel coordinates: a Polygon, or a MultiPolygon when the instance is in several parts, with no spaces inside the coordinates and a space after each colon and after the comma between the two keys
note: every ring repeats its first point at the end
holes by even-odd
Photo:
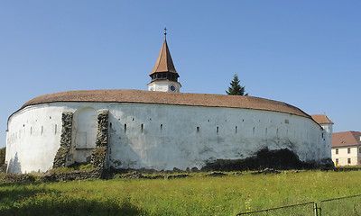
{"type": "Polygon", "coordinates": [[[333,133],[331,151],[336,166],[361,165],[361,132],[333,133]]]}

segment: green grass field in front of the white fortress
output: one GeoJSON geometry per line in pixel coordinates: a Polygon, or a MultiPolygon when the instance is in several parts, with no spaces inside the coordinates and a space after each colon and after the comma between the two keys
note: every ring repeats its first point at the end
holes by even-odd
{"type": "Polygon", "coordinates": [[[361,193],[361,171],[228,174],[0,183],[0,215],[236,215],[361,193]]]}

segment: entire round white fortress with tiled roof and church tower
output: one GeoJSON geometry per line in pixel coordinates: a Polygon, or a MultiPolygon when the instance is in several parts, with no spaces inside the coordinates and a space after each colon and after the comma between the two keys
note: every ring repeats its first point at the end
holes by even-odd
{"type": "Polygon", "coordinates": [[[166,40],[150,76],[149,91],[70,91],[24,103],[7,122],[7,172],[76,162],[103,169],[236,169],[265,151],[288,152],[312,166],[332,163],[333,123],[326,115],[312,118],[253,96],[180,93],[166,40]]]}

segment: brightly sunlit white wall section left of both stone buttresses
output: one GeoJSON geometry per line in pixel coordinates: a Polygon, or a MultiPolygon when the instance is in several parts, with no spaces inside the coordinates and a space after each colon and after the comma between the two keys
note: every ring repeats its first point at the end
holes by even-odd
{"type": "Polygon", "coordinates": [[[38,104],[14,113],[6,132],[8,172],[44,172],[60,147],[63,107],[38,104]]]}

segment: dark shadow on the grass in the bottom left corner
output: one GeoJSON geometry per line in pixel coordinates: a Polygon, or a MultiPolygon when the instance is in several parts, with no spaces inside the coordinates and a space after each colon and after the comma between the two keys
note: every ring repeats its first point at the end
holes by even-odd
{"type": "Polygon", "coordinates": [[[129,199],[106,201],[23,186],[0,191],[0,215],[142,215],[129,199]]]}

